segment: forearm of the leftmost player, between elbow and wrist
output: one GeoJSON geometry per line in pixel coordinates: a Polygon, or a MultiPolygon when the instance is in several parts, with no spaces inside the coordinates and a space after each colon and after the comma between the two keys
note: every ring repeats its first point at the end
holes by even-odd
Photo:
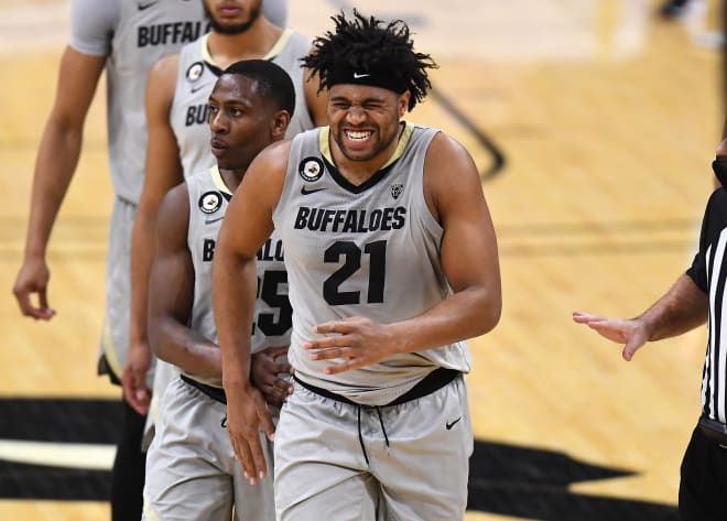
{"type": "Polygon", "coordinates": [[[83,135],[48,121],[35,162],[25,257],[44,258],[51,230],[78,164],[83,135]]]}

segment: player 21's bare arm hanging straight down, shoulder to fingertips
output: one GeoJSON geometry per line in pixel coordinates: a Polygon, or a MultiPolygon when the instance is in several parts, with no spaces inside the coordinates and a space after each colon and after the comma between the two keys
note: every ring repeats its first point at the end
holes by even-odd
{"type": "Polygon", "coordinates": [[[267,474],[258,426],[272,437],[264,399],[250,382],[250,335],[258,284],[256,257],[273,230],[272,213],[285,177],[289,142],[274,143],[248,167],[227,208],[213,261],[213,305],[223,356],[227,430],[246,476],[267,474]]]}

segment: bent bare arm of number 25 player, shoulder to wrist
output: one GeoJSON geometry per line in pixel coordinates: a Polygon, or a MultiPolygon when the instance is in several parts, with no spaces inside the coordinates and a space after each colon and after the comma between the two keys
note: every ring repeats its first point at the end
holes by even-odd
{"type": "Polygon", "coordinates": [[[188,224],[189,200],[183,183],[166,194],[159,209],[149,280],[149,343],[162,360],[205,378],[219,378],[219,349],[188,327],[195,282],[188,224]]]}

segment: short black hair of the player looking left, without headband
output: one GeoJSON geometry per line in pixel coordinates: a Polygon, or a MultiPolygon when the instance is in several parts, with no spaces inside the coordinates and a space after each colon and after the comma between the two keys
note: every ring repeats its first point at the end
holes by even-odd
{"type": "Polygon", "coordinates": [[[290,75],[268,59],[242,59],[223,70],[223,75],[238,74],[258,83],[260,94],[275,104],[279,110],[286,110],[293,117],[295,110],[295,87],[290,75]]]}

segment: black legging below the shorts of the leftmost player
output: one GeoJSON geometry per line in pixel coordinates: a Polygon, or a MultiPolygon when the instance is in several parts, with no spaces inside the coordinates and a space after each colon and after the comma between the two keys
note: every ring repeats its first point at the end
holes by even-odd
{"type": "Polygon", "coordinates": [[[147,416],[123,401],[121,437],[111,470],[111,520],[139,521],[143,508],[147,455],[141,452],[147,416]]]}

